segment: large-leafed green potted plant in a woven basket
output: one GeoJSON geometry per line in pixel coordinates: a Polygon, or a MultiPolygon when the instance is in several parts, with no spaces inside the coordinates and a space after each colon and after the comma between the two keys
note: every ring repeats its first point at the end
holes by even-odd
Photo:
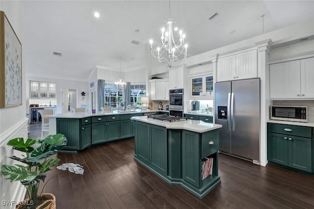
{"type": "MultiPolygon", "coordinates": [[[[55,209],[55,197],[52,194],[38,193],[40,181],[45,182],[46,172],[56,166],[60,159],[52,157],[58,153],[67,144],[67,139],[63,134],[49,135],[44,139],[27,139],[14,138],[7,145],[12,146],[14,150],[24,153],[23,158],[11,156],[9,158],[22,162],[26,165],[2,165],[1,173],[9,176],[11,182],[20,181],[25,187],[28,199],[20,202],[16,208],[18,209],[55,209]]],[[[74,163],[64,163],[57,166],[59,170],[69,170],[76,174],[83,174],[84,170],[81,165],[74,163]]],[[[57,174],[56,174],[57,175],[57,174]]],[[[55,175],[55,176],[56,176],[55,175]]]]}

